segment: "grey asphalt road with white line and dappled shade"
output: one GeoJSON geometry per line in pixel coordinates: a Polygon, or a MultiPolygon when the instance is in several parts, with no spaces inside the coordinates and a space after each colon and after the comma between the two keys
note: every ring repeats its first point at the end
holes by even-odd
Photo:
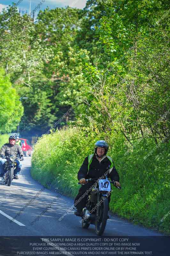
{"type": "MultiPolygon", "coordinates": [[[[96,236],[94,225],[90,225],[87,230],[81,228],[81,218],[76,217],[73,210],[59,221],[73,205],[73,199],[43,189],[41,184],[32,179],[30,169],[31,157],[26,157],[22,162],[19,180],[13,180],[10,187],[3,185],[0,180],[0,236],[96,236]]],[[[162,234],[111,216],[104,236],[162,234]]]]}

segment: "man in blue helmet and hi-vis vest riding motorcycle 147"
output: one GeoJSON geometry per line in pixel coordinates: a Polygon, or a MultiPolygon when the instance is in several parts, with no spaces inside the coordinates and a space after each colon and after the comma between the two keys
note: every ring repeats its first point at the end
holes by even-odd
{"type": "MultiPolygon", "coordinates": [[[[104,140],[98,140],[95,143],[94,155],[91,155],[91,162],[89,163],[89,156],[87,156],[80,167],[77,177],[79,182],[85,185],[81,186],[79,193],[74,200],[74,206],[77,208],[74,213],[78,216],[82,215],[82,209],[86,205],[87,198],[90,193],[88,189],[95,183],[95,181],[87,183],[86,179],[99,178],[109,171],[108,177],[111,178],[112,181],[114,180],[115,186],[120,187],[119,174],[112,162],[112,158],[106,155],[108,148],[107,142],[104,140]]],[[[110,202],[110,196],[108,196],[108,201],[110,202]]]]}

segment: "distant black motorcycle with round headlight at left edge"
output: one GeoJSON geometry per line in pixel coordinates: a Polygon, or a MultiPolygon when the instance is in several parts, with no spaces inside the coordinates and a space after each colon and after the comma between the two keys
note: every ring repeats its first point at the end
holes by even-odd
{"type": "Polygon", "coordinates": [[[11,182],[14,176],[14,169],[17,166],[16,160],[23,161],[23,159],[17,158],[13,155],[5,156],[3,158],[5,158],[7,161],[5,162],[5,172],[2,177],[2,182],[4,182],[5,185],[11,186],[11,182]]]}

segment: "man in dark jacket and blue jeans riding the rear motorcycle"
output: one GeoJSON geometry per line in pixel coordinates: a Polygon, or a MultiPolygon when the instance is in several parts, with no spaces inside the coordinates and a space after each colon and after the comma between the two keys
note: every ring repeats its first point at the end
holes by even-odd
{"type": "MultiPolygon", "coordinates": [[[[19,145],[16,144],[16,137],[15,136],[10,136],[9,137],[9,143],[6,143],[2,146],[2,148],[0,149],[0,156],[4,157],[4,156],[11,156],[14,155],[15,157],[17,157],[17,155],[19,154],[20,158],[23,159],[23,151],[21,149],[21,147],[19,145]]],[[[5,158],[1,158],[0,159],[0,177],[3,177],[4,175],[4,167],[5,167],[5,162],[6,159],[5,158]]],[[[19,160],[16,160],[17,166],[16,169],[14,170],[14,179],[19,179],[18,178],[18,174],[21,170],[21,164],[19,163],[19,160]]]]}

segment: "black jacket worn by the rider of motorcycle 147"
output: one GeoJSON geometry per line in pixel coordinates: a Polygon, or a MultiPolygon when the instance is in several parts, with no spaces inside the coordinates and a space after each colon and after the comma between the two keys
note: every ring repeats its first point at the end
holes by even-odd
{"type": "MultiPolygon", "coordinates": [[[[105,172],[110,169],[111,162],[110,160],[105,156],[104,159],[102,159],[100,162],[97,160],[96,156],[94,155],[92,158],[92,162],[89,167],[88,172],[88,156],[84,159],[83,164],[80,167],[80,170],[78,172],[77,178],[78,180],[85,178],[99,178],[104,175],[105,172]]],[[[116,168],[113,163],[113,167],[111,168],[111,172],[108,175],[111,180],[119,181],[119,174],[116,171],[116,168]]]]}

